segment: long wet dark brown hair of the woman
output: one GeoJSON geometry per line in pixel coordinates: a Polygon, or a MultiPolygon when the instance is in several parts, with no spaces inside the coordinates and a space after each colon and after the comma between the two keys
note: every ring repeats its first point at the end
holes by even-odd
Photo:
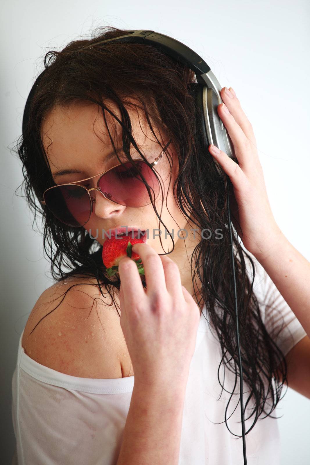
{"type": "MultiPolygon", "coordinates": [[[[46,163],[41,129],[43,119],[54,106],[89,102],[101,108],[105,122],[107,114],[109,121],[115,119],[115,124],[122,126],[124,153],[128,159],[131,144],[144,158],[132,137],[131,120],[126,110],[131,102],[128,97],[137,99],[136,105],[145,112],[147,123],[158,143],[152,123],[159,131],[164,130],[168,140],[171,139],[176,147],[180,169],[173,192],[179,208],[200,231],[222,230],[223,239],[216,240],[211,236],[209,240],[202,239],[195,247],[191,270],[193,283],[196,275],[202,283],[200,293],[209,313],[210,326],[220,342],[223,357],[219,369],[223,365],[224,370],[228,369],[235,375],[236,382],[229,405],[233,395],[239,396],[239,393],[235,393],[239,367],[229,253],[231,241],[227,223],[229,185],[226,178],[218,176],[211,154],[200,142],[200,126],[196,124],[197,108],[190,90],[190,83],[197,82],[193,71],[152,46],[126,43],[98,45],[101,40],[129,32],[115,27],[100,27],[91,39],[73,40],[60,51],[46,53],[46,72],[36,89],[29,120],[17,144],[16,153],[23,163],[24,192],[34,213],[33,223],[37,213],[43,217],[44,250],[51,261],[53,278],[59,282],[73,276],[96,278],[97,284],[92,286],[98,286],[103,297],[102,288],[106,290],[114,302],[112,294],[119,290],[120,281],[116,276],[109,278],[105,272],[102,246],[90,238],[84,227],[66,226],[46,207],[42,209],[40,200],[43,199],[44,191],[55,184],[46,163]],[[105,98],[111,98],[118,105],[121,120],[104,103],[105,98]],[[191,212],[191,217],[187,211],[191,212]],[[65,266],[70,271],[65,272],[65,266]]],[[[115,148],[113,138],[109,135],[115,148]]],[[[165,154],[169,159],[169,153],[165,151],[165,154]]],[[[160,219],[157,211],[155,213],[160,219]]],[[[253,423],[247,430],[249,432],[259,417],[271,416],[281,399],[283,385],[287,383],[287,365],[283,352],[273,340],[275,337],[271,337],[264,326],[260,306],[253,292],[254,263],[238,239],[233,229],[239,340],[244,383],[250,388],[244,410],[250,405],[250,400],[254,405],[248,417],[253,417],[253,423]],[[251,282],[246,272],[245,256],[252,266],[251,282]]],[[[145,281],[143,284],[145,286],[145,281]]],[[[218,381],[222,392],[223,389],[228,392],[219,374],[218,381]]],[[[228,405],[224,419],[227,428],[228,405]]]]}

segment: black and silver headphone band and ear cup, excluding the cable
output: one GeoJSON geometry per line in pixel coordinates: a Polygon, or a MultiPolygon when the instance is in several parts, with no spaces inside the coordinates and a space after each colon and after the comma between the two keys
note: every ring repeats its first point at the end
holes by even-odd
{"type": "MultiPolygon", "coordinates": [[[[191,83],[191,92],[195,97],[198,108],[200,108],[200,123],[203,129],[206,149],[210,144],[213,144],[223,152],[227,153],[230,158],[235,158],[233,145],[228,133],[226,132],[222,120],[218,116],[217,111],[218,105],[222,103],[220,95],[222,87],[220,86],[215,75],[212,73],[210,66],[208,66],[207,63],[196,52],[191,50],[191,48],[185,44],[182,44],[182,42],[173,39],[172,37],[143,29],[134,30],[131,31],[130,34],[115,37],[113,39],[102,40],[96,45],[109,42],[126,42],[152,45],[174,60],[178,60],[180,63],[190,68],[196,74],[197,78],[197,83],[191,83]]],[[[84,47],[81,47],[78,50],[82,50],[83,48],[84,47]]],[[[87,46],[85,46],[85,48],[87,48],[87,46]]],[[[35,80],[26,100],[22,123],[23,132],[26,127],[26,121],[29,118],[30,101],[33,97],[36,87],[40,82],[41,77],[45,72],[46,69],[44,69],[35,80]]],[[[214,161],[217,165],[218,173],[223,175],[224,173],[222,169],[219,167],[216,160],[214,161]]]]}

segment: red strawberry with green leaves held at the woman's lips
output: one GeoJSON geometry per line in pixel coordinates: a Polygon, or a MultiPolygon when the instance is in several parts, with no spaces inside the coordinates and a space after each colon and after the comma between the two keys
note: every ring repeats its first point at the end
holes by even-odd
{"type": "Polygon", "coordinates": [[[122,236],[111,239],[106,239],[102,247],[102,261],[106,266],[106,272],[109,276],[113,276],[119,270],[119,261],[123,257],[129,257],[134,260],[138,266],[140,274],[144,274],[144,267],[140,255],[132,251],[133,244],[145,242],[146,237],[140,239],[122,236]]]}

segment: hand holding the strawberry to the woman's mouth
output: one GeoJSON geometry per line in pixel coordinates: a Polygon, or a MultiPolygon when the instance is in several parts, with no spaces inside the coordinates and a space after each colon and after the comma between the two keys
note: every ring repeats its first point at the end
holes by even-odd
{"type": "Polygon", "coordinates": [[[178,266],[147,243],[132,246],[142,259],[146,289],[137,265],[119,261],[120,326],[135,383],[159,389],[185,389],[195,351],[200,310],[181,285],[178,266]]]}

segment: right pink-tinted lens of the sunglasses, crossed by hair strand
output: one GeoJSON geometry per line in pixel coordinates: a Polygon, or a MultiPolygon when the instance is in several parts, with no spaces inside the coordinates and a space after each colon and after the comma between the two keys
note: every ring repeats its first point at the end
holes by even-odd
{"type": "Polygon", "coordinates": [[[99,179],[99,189],[106,197],[119,205],[130,207],[145,206],[158,197],[159,184],[152,169],[144,162],[135,160],[116,166],[99,179]],[[148,184],[150,195],[143,182],[148,184]]]}

